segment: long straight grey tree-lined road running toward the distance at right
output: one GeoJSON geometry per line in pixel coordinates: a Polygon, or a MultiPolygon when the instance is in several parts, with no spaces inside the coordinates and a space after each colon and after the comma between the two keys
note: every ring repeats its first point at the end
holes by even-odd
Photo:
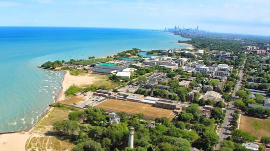
{"type": "MultiPolygon", "coordinates": [[[[242,79],[243,79],[243,68],[244,68],[244,64],[245,64],[246,58],[243,61],[243,65],[238,73],[238,76],[240,77],[240,79],[237,81],[234,90],[232,92],[232,99],[235,98],[235,93],[236,91],[238,91],[241,88],[242,85],[242,79]]],[[[226,116],[224,118],[224,123],[222,124],[220,131],[218,133],[218,137],[219,137],[219,144],[215,147],[215,151],[218,151],[220,148],[220,143],[225,140],[226,138],[228,138],[230,136],[230,131],[229,128],[231,127],[229,124],[229,121],[232,119],[231,114],[236,110],[235,106],[233,105],[232,102],[229,103],[228,107],[226,108],[226,116]]]]}

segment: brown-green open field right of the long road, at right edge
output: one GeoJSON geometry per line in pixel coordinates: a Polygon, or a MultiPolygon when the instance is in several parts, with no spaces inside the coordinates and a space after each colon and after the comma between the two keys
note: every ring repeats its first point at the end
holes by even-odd
{"type": "Polygon", "coordinates": [[[257,136],[258,139],[262,136],[270,136],[270,119],[265,120],[241,115],[239,129],[257,136]]]}

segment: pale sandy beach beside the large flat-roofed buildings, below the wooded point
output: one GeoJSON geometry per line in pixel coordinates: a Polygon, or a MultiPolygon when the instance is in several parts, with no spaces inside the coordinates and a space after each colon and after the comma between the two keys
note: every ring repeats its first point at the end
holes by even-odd
{"type": "Polygon", "coordinates": [[[58,96],[56,98],[56,102],[62,101],[65,99],[64,92],[71,86],[83,86],[83,85],[89,85],[92,84],[94,81],[98,80],[95,78],[95,76],[91,76],[93,74],[85,74],[85,75],[77,75],[72,76],[69,74],[69,71],[65,71],[64,78],[62,81],[62,90],[58,93],[58,96]]]}

